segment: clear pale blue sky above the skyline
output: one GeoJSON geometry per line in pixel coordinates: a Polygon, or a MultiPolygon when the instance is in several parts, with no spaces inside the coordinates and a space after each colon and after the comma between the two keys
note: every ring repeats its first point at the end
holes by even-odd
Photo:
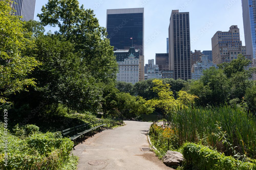
{"type": "MultiPolygon", "coordinates": [[[[231,25],[240,29],[240,37],[244,44],[243,18],[241,0],[78,0],[80,6],[94,9],[102,27],[106,27],[106,10],[119,8],[144,7],[144,55],[145,63],[155,59],[155,53],[166,53],[166,38],[168,37],[169,19],[172,10],[189,12],[191,51],[211,50],[211,38],[217,31],[228,31],[231,25]],[[208,25],[209,24],[209,25],[208,25]],[[207,28],[208,26],[208,28],[207,28]],[[206,27],[206,28],[205,28],[206,27]],[[203,31],[202,31],[203,29],[203,31]],[[157,36],[155,36],[157,35],[157,36]]],[[[36,15],[48,0],[36,0],[34,20],[39,21],[36,15]]],[[[46,32],[54,32],[57,28],[45,27],[46,32]]]]}

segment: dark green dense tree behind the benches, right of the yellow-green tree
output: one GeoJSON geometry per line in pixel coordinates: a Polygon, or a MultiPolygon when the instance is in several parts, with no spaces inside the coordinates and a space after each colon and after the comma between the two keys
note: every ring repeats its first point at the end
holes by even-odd
{"type": "Polygon", "coordinates": [[[75,53],[69,41],[60,41],[59,36],[40,36],[36,39],[37,50],[27,49],[24,53],[35,56],[43,63],[29,77],[36,79],[37,87],[20,95],[17,104],[29,103],[32,108],[38,103],[63,104],[72,110],[96,111],[102,92],[87,67],[75,53]]]}

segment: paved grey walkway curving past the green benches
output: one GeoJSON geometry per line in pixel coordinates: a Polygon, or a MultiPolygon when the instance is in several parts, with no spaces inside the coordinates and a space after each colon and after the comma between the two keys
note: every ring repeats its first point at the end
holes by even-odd
{"type": "Polygon", "coordinates": [[[73,154],[79,156],[78,170],[98,169],[172,169],[167,167],[152,151],[141,151],[149,147],[147,132],[148,122],[125,121],[126,126],[102,130],[75,146],[73,154]],[[104,165],[90,165],[89,161],[99,160],[104,165]]]}

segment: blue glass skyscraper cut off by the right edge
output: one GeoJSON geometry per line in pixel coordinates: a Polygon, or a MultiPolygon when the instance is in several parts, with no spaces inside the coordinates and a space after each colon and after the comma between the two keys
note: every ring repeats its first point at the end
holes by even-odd
{"type": "Polygon", "coordinates": [[[256,53],[256,1],[242,0],[244,40],[247,54],[255,58],[256,53]]]}

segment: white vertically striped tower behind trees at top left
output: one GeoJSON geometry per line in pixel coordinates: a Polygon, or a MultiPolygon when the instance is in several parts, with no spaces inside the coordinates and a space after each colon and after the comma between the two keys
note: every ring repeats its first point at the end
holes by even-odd
{"type": "Polygon", "coordinates": [[[34,20],[36,0],[13,0],[14,15],[23,16],[22,21],[34,20]]]}

